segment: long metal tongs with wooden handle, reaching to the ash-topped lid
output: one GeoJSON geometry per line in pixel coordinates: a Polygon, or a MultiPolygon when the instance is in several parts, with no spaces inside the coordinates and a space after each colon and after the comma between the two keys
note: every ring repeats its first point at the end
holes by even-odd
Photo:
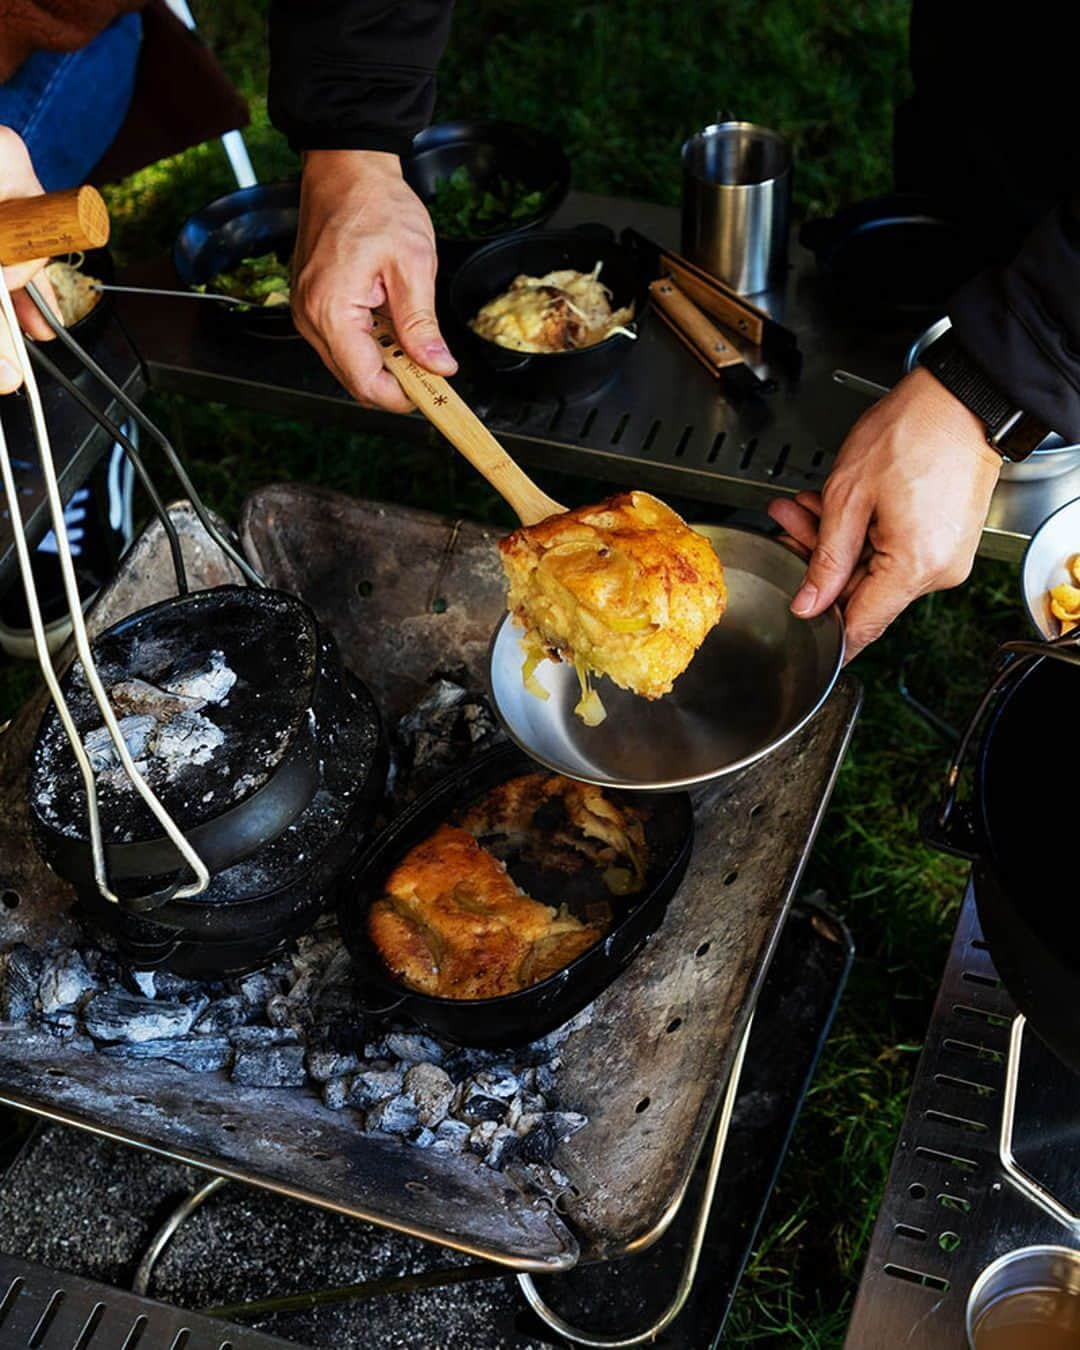
{"type": "MultiPolygon", "coordinates": [[[[101,196],[93,188],[76,188],[68,192],[47,193],[39,197],[18,198],[0,204],[0,265],[28,262],[36,258],[47,258],[57,252],[100,248],[108,240],[108,212],[101,196]]],[[[250,566],[247,559],[244,559],[232,543],[221,533],[207,512],[207,508],[198,497],[194,485],[188,477],[180,458],[165,433],[72,338],[32,282],[27,285],[26,292],[63,347],[66,347],[82,369],[86,370],[105,389],[112,400],[120,404],[128,417],[161,447],[170,467],[177,474],[184,491],[188,494],[196,516],[211,539],[213,539],[225,556],[240,570],[250,585],[265,586],[266,583],[263,579],[250,566]]],[[[131,779],[134,788],[138,791],[139,796],[143,799],[154,818],[162,826],[167,838],[176,846],[184,863],[193,873],[193,880],[178,886],[173,891],[174,896],[188,898],[201,895],[211,882],[209,869],[202,863],[198,853],[192,848],[180,825],[173,819],[157,794],[136,768],[123,733],[120,732],[116,713],[109,703],[94,664],[90,640],[86,633],[86,624],[82,616],[82,602],[78,595],[78,583],[76,580],[72,549],[63,518],[63,502],[59,495],[53,450],[49,440],[49,427],[46,424],[42,398],[38,389],[35,367],[46,371],[53,379],[55,379],[57,383],[59,383],[59,386],[123,447],[127,458],[131,460],[132,468],[139,477],[139,481],[146,487],[154,510],[165,531],[171,554],[173,568],[176,571],[178,591],[180,594],[186,594],[189,591],[189,585],[176,525],[169,517],[169,512],[162,502],[153,479],[147,474],[144,464],[142,463],[142,458],[132,437],[127,436],[104,412],[101,412],[93,400],[90,400],[82,389],[65,375],[39,346],[36,346],[32,340],[24,339],[11,300],[11,293],[3,274],[3,266],[0,266],[0,310],[3,312],[3,319],[11,333],[15,356],[26,386],[31,423],[34,427],[34,437],[38,446],[42,478],[45,481],[46,497],[49,501],[53,533],[57,540],[57,559],[59,562],[61,576],[63,580],[68,613],[72,621],[72,636],[74,637],[76,652],[78,653],[78,660],[81,663],[86,684],[97,710],[101,714],[101,721],[108,730],[109,740],[120,764],[124,768],[124,772],[131,779]]],[[[72,752],[76,757],[76,763],[78,764],[86,791],[86,815],[90,832],[90,848],[93,853],[94,882],[97,884],[97,890],[107,900],[120,903],[120,896],[117,896],[109,886],[94,772],[82,744],[82,738],[78,733],[78,728],[72,717],[72,711],[65,702],[59,676],[57,675],[57,670],[53,664],[53,656],[49,651],[49,644],[45,636],[40,603],[31,566],[30,545],[26,536],[19,491],[15,485],[15,475],[12,473],[12,462],[8,452],[3,420],[0,420],[0,479],[3,481],[4,493],[7,494],[15,554],[19,563],[23,591],[26,594],[38,664],[45,678],[46,687],[49,688],[50,698],[55,705],[57,713],[59,714],[61,724],[68,736],[68,741],[70,742],[72,752]]]]}

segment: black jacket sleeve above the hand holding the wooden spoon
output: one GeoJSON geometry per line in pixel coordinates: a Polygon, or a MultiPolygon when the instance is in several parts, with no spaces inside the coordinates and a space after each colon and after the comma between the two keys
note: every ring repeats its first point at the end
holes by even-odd
{"type": "Polygon", "coordinates": [[[271,0],[270,119],[294,150],[402,154],[431,120],[452,0],[271,0]]]}

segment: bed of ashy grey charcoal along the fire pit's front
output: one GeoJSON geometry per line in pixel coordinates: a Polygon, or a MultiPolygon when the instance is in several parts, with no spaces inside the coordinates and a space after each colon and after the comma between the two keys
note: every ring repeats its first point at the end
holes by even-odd
{"type": "Polygon", "coordinates": [[[86,1053],[161,1060],[244,1087],[306,1091],[404,1146],[521,1173],[555,1195],[551,1160],[589,1123],[558,1099],[559,1046],[586,1010],[518,1050],[470,1050],[358,1011],[352,968],[327,917],[293,953],[232,980],[130,971],[99,948],[0,952],[0,1018],[86,1053]]]}

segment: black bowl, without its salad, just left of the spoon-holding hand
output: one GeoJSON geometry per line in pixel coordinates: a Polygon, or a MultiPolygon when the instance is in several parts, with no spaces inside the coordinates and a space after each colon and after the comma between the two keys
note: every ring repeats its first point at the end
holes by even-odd
{"type": "MultiPolygon", "coordinates": [[[[240,188],[196,211],[180,227],[173,244],[173,266],[185,286],[205,286],[244,258],[274,252],[288,262],[300,220],[300,184],[270,182],[240,188]]],[[[259,338],[296,338],[288,305],[201,305],[232,332],[259,338]]]]}

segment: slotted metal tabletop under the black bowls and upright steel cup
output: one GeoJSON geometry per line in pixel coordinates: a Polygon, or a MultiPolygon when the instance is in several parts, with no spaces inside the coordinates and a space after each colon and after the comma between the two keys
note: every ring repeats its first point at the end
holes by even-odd
{"type": "MultiPolygon", "coordinates": [[[[552,225],[626,225],[668,246],[679,242],[670,207],[574,192],[552,225]]],[[[830,309],[813,256],[792,242],[782,288],[755,301],[798,335],[798,369],[757,362],[778,387],[760,397],[726,398],[678,339],[647,316],[639,342],[602,390],[567,402],[522,398],[512,389],[471,381],[459,387],[487,425],[524,462],[609,479],[683,498],[761,506],[778,493],[818,489],[867,400],[838,386],[832,373],[853,370],[886,385],[925,327],[868,327],[830,309]]],[[[176,285],[171,266],[134,269],[136,284],[176,285]]],[[[193,398],[217,400],[289,417],[321,418],[356,429],[427,437],[417,413],[401,418],[360,408],[300,338],[258,338],[224,327],[209,306],[117,297],[147,363],[151,382],[193,398]]],[[[1002,483],[981,552],[1017,559],[1031,532],[1057,506],[1080,495],[1080,468],[1041,482],[1002,483]]]]}

